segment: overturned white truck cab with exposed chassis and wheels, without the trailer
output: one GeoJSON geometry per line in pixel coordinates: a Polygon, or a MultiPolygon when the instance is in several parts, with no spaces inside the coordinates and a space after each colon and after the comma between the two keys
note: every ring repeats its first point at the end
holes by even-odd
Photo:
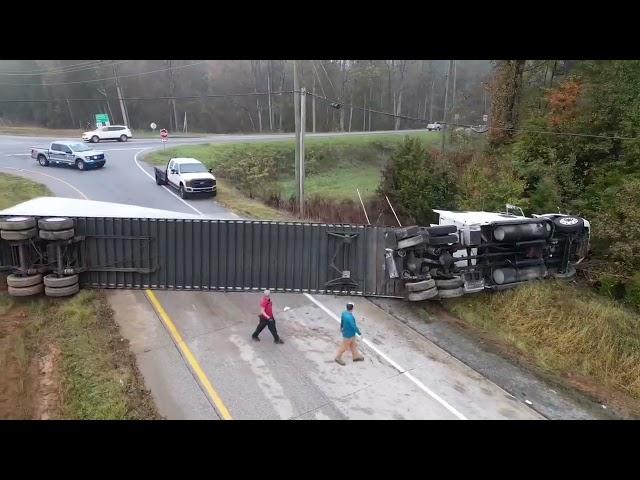
{"type": "Polygon", "coordinates": [[[529,218],[513,205],[504,213],[434,212],[439,224],[398,228],[385,236],[389,278],[403,281],[410,301],[572,278],[574,265],[589,251],[591,228],[583,218],[561,213],[529,218]]]}

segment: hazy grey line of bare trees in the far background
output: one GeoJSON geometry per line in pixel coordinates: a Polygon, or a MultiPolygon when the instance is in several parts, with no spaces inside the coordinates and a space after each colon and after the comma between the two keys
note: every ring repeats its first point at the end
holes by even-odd
{"type": "MultiPolygon", "coordinates": [[[[307,131],[421,128],[424,122],[401,117],[441,121],[445,92],[451,120],[481,123],[489,62],[450,67],[443,60],[298,60],[300,87],[315,93],[307,96],[307,131]]],[[[155,122],[180,131],[186,115],[190,131],[293,131],[293,74],[291,60],[2,61],[0,121],[85,128],[108,113],[132,128],[155,122]],[[249,93],[264,95],[225,96],[249,93]],[[188,96],[196,98],[180,98],[188,96]]]]}

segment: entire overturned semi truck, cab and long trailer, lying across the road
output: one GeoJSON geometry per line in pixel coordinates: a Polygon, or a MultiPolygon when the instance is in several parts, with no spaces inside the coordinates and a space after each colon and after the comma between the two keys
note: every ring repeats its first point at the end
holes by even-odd
{"type": "Polygon", "coordinates": [[[14,296],[269,288],[422,301],[570,277],[588,249],[577,217],[437,212],[438,225],[391,228],[43,197],[0,212],[0,274],[14,296]]]}

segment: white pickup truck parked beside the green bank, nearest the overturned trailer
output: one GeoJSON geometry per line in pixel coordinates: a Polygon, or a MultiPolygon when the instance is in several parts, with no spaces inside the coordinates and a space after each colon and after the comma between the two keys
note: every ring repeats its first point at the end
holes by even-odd
{"type": "Polygon", "coordinates": [[[175,188],[182,198],[192,193],[216,196],[216,177],[195,158],[172,158],[165,168],[154,167],[154,171],[157,185],[175,188]]]}

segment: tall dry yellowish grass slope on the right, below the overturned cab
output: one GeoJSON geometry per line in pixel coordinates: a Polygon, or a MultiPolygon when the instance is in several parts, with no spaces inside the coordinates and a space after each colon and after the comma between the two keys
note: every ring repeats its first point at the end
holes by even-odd
{"type": "Polygon", "coordinates": [[[586,287],[555,280],[444,304],[542,372],[640,415],[637,313],[586,287]]]}

